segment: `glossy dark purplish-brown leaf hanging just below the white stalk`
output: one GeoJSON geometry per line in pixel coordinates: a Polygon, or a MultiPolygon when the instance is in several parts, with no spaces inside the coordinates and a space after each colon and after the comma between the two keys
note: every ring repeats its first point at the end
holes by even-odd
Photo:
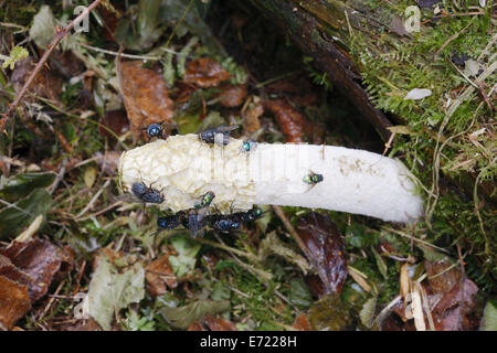
{"type": "Polygon", "coordinates": [[[299,220],[297,232],[309,253],[326,293],[341,292],[347,279],[345,242],[329,217],[311,212],[299,220]]]}

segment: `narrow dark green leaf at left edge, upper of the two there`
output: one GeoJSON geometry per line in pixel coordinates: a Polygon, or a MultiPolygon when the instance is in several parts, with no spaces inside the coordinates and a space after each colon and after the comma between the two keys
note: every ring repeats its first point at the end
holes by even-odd
{"type": "Polygon", "coordinates": [[[36,188],[51,185],[54,179],[54,173],[24,173],[11,176],[1,185],[0,197],[13,202],[27,196],[36,188]]]}

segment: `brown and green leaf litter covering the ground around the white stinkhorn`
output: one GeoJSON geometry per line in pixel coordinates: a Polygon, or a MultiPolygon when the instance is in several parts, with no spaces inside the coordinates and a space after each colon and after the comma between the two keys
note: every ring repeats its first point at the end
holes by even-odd
{"type": "MultiPolygon", "coordinates": [[[[241,138],[271,142],[324,140],[364,148],[362,141],[372,136],[345,118],[349,107],[322,98],[310,77],[300,74],[299,58],[294,71],[268,69],[261,75],[251,61],[242,60],[242,67],[226,55],[201,8],[188,10],[183,1],[168,4],[168,11],[161,1],[146,0],[138,1],[136,12],[110,2],[105,2],[105,10],[97,8],[105,23],[102,33],[63,40],[66,51],[52,54],[30,87],[33,95],[25,99],[25,108],[20,107],[27,114],[15,126],[14,153],[4,153],[8,143],[1,141],[2,154],[15,156],[2,158],[0,165],[4,174],[13,174],[2,176],[0,186],[3,329],[15,324],[144,331],[279,330],[292,324],[305,331],[495,327],[491,301],[479,322],[482,289],[473,274],[469,279],[457,261],[423,261],[429,257],[425,245],[413,249],[366,217],[288,207],[284,214],[302,244],[286,236],[271,212],[236,234],[220,235],[221,242],[209,231],[202,243],[181,233],[150,233],[156,210],[109,204],[114,190],[103,182],[115,176],[126,143],[147,141],[145,128],[152,122],[165,122],[165,137],[175,125],[184,133],[228,122],[241,124],[241,138]],[[38,118],[45,125],[39,125],[38,118]],[[55,153],[57,148],[64,152],[55,153]],[[27,172],[27,165],[55,173],[27,172]],[[82,210],[87,215],[75,217],[82,210]],[[15,242],[31,225],[34,231],[28,242],[15,242]],[[380,246],[384,244],[388,252],[380,246]],[[67,274],[71,281],[61,281],[67,274]],[[74,313],[64,313],[59,306],[74,313]],[[29,310],[32,314],[25,315],[29,310]]],[[[52,40],[60,18],[47,7],[39,9],[30,35],[40,50],[52,40]]],[[[243,12],[233,19],[226,33],[239,40],[237,31],[248,31],[241,36],[250,42],[245,47],[260,50],[253,44],[260,23],[246,21],[243,12]]],[[[24,47],[11,47],[6,67],[13,84],[6,88],[9,93],[20,89],[34,65],[30,47],[29,57],[24,47]]],[[[278,63],[274,53],[257,53],[263,54],[257,56],[263,66],[278,63]]],[[[463,64],[469,76],[478,69],[473,62],[463,64]]],[[[405,99],[427,97],[429,89],[416,88],[405,99]]]]}

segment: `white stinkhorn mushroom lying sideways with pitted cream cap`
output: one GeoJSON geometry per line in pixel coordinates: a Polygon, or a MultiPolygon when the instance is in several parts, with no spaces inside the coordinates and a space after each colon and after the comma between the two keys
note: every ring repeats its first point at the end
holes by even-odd
{"type": "Polygon", "coordinates": [[[413,222],[423,213],[415,183],[399,161],[363,150],[334,146],[257,143],[209,145],[197,135],[171,136],[124,152],[119,181],[130,193],[134,183],[161,191],[161,210],[193,208],[209,191],[205,207],[228,214],[257,205],[326,208],[383,221],[413,222]],[[315,184],[309,174],[322,175],[315,184]]]}

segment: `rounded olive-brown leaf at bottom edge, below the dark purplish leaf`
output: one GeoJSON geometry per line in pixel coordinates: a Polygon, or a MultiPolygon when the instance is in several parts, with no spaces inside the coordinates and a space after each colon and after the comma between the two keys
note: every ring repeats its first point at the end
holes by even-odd
{"type": "Polygon", "coordinates": [[[310,328],[318,331],[343,331],[352,323],[350,312],[337,292],[322,296],[309,309],[308,318],[310,328]]]}

